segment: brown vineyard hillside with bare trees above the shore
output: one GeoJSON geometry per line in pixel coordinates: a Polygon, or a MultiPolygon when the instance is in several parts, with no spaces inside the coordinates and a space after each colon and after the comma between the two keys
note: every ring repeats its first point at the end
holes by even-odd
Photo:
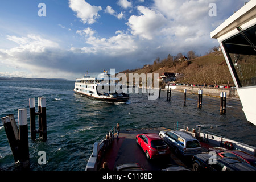
{"type": "MultiPolygon", "coordinates": [[[[187,58],[187,57],[185,57],[187,58]]],[[[179,73],[176,82],[184,84],[203,85],[233,85],[233,80],[226,65],[225,57],[221,51],[215,51],[195,59],[168,56],[163,60],[155,60],[152,65],[143,68],[125,70],[121,73],[179,73]]],[[[128,79],[128,78],[127,78],[128,79]]]]}

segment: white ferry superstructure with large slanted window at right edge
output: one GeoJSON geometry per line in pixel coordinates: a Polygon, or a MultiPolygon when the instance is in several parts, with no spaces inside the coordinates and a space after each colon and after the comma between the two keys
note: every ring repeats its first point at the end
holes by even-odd
{"type": "Polygon", "coordinates": [[[256,125],[256,1],[246,3],[210,35],[220,43],[246,119],[256,125]]]}

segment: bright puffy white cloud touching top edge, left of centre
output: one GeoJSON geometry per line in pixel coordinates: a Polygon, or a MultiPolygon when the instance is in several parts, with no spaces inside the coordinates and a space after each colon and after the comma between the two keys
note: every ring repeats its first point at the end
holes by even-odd
{"type": "Polygon", "coordinates": [[[76,12],[77,18],[82,22],[93,24],[100,17],[98,11],[102,10],[101,6],[92,6],[84,0],[69,0],[69,7],[76,12]]]}

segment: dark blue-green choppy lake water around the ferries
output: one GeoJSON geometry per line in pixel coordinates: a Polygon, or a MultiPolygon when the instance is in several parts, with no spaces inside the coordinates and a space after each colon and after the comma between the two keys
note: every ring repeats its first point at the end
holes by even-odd
{"type": "MultiPolygon", "coordinates": [[[[14,114],[18,125],[18,109],[28,113],[30,169],[47,171],[84,171],[98,142],[118,122],[121,130],[142,127],[174,128],[196,125],[218,125],[205,130],[256,146],[256,126],[248,122],[240,100],[227,100],[226,115],[220,115],[220,98],[203,96],[203,107],[197,108],[197,95],[172,92],[171,101],[162,90],[160,99],[148,100],[147,94],[130,93],[126,103],[112,104],[82,97],[73,92],[75,81],[0,81],[0,117],[14,114]],[[29,98],[46,97],[47,142],[30,139],[29,98]],[[38,164],[38,152],[45,151],[46,165],[38,164]]],[[[37,109],[36,109],[37,111],[37,109]]],[[[36,119],[38,125],[38,119],[36,119]]],[[[38,128],[38,126],[36,126],[38,128]]],[[[37,135],[38,137],[38,135],[37,135]]],[[[15,170],[13,154],[0,123],[0,169],[15,170]]]]}

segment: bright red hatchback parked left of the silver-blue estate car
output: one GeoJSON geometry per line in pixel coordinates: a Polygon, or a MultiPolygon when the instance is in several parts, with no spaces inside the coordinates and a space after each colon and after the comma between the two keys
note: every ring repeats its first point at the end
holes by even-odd
{"type": "Polygon", "coordinates": [[[138,134],[136,143],[142,147],[147,159],[170,154],[169,147],[156,133],[138,134]]]}

